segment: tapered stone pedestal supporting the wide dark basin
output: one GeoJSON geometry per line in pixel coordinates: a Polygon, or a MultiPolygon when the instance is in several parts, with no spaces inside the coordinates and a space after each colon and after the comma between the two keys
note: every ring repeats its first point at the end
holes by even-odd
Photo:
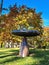
{"type": "Polygon", "coordinates": [[[27,38],[24,37],[20,46],[20,53],[19,55],[21,57],[26,57],[29,54],[29,48],[28,48],[28,44],[27,44],[27,38]]]}

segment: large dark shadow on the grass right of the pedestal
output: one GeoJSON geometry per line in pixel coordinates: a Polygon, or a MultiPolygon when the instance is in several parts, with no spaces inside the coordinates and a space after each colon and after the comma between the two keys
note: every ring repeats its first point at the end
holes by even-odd
{"type": "Polygon", "coordinates": [[[49,50],[31,49],[30,54],[32,54],[32,58],[39,61],[39,64],[35,63],[31,65],[49,65],[49,50]]]}

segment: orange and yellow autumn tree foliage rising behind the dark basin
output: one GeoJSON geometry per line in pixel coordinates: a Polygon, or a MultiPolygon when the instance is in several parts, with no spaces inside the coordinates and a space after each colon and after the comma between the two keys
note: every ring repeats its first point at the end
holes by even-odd
{"type": "Polygon", "coordinates": [[[39,30],[42,33],[43,21],[41,14],[41,12],[36,13],[36,9],[28,8],[24,5],[21,7],[16,5],[10,6],[9,13],[0,16],[0,20],[2,20],[0,23],[2,38],[13,38],[14,36],[11,34],[11,31],[14,29],[39,30]]]}

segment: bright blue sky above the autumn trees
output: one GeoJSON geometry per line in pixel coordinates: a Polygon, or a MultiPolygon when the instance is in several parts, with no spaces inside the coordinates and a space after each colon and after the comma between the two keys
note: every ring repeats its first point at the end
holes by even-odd
{"type": "MultiPolygon", "coordinates": [[[[1,3],[1,0],[0,0],[1,3]]],[[[49,27],[49,0],[4,0],[3,8],[8,8],[10,5],[17,6],[26,5],[29,8],[36,8],[36,12],[42,12],[43,26],[49,27]]],[[[8,13],[8,11],[2,11],[8,13]]]]}

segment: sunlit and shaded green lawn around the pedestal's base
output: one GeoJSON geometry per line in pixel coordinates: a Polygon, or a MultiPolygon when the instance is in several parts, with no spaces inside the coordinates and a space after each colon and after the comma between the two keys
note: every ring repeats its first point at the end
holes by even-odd
{"type": "Polygon", "coordinates": [[[0,65],[49,65],[49,50],[30,49],[30,56],[18,57],[17,48],[0,48],[0,65]]]}

